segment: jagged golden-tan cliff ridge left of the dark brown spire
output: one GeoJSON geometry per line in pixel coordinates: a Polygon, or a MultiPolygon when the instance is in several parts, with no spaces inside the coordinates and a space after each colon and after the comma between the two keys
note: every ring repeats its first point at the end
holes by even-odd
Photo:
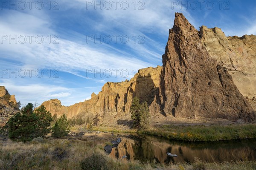
{"type": "MultiPolygon", "coordinates": [[[[99,113],[100,116],[113,118],[128,113],[134,96],[141,101],[147,101],[149,107],[158,94],[159,76],[162,67],[140,69],[130,81],[125,82],[107,82],[98,95],[92,94],[91,99],[76,103],[69,107],[61,105],[58,99],[51,99],[43,102],[42,105],[54,115],[61,116],[66,114],[68,118],[78,114],[84,114],[90,118],[99,113]]],[[[153,112],[153,111],[152,111],[153,112]]]]}

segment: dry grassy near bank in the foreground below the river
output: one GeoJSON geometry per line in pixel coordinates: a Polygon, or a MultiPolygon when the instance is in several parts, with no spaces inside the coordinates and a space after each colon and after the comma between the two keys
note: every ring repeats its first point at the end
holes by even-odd
{"type": "Polygon", "coordinates": [[[43,139],[27,143],[2,142],[1,170],[255,170],[255,161],[157,164],[114,159],[97,140],[43,139]]]}

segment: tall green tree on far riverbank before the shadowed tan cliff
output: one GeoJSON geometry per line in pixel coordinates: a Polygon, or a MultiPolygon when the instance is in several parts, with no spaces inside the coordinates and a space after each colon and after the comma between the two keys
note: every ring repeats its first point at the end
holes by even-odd
{"type": "Polygon", "coordinates": [[[145,130],[149,125],[149,109],[147,102],[140,104],[140,99],[134,97],[131,108],[131,119],[134,120],[134,126],[145,130]]]}

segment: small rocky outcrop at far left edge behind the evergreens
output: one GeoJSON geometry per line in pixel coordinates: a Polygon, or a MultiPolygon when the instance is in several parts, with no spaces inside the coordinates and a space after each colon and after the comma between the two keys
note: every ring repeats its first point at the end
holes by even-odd
{"type": "Polygon", "coordinates": [[[4,86],[0,86],[0,126],[4,126],[19,111],[16,103],[15,95],[10,95],[4,86]]]}

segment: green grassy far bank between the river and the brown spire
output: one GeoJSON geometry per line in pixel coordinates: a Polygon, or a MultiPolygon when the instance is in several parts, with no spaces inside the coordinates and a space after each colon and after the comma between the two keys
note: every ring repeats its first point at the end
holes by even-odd
{"type": "Polygon", "coordinates": [[[94,130],[111,131],[111,132],[127,132],[127,133],[143,133],[154,136],[162,136],[168,139],[180,141],[221,141],[232,139],[256,138],[256,124],[244,125],[158,125],[148,130],[119,130],[113,127],[95,127],[94,130]]]}

